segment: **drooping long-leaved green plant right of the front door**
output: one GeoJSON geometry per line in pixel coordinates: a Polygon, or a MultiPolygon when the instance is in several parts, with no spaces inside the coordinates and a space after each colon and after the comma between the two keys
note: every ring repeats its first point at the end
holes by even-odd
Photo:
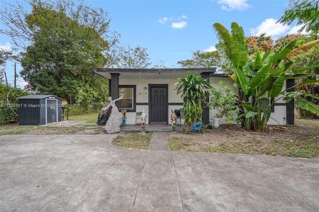
{"type": "Polygon", "coordinates": [[[202,101],[209,97],[209,91],[212,85],[201,76],[194,76],[194,73],[188,72],[185,78],[178,78],[178,82],[174,85],[177,94],[181,94],[183,99],[184,123],[188,128],[191,123],[196,123],[203,111],[202,101]]]}

